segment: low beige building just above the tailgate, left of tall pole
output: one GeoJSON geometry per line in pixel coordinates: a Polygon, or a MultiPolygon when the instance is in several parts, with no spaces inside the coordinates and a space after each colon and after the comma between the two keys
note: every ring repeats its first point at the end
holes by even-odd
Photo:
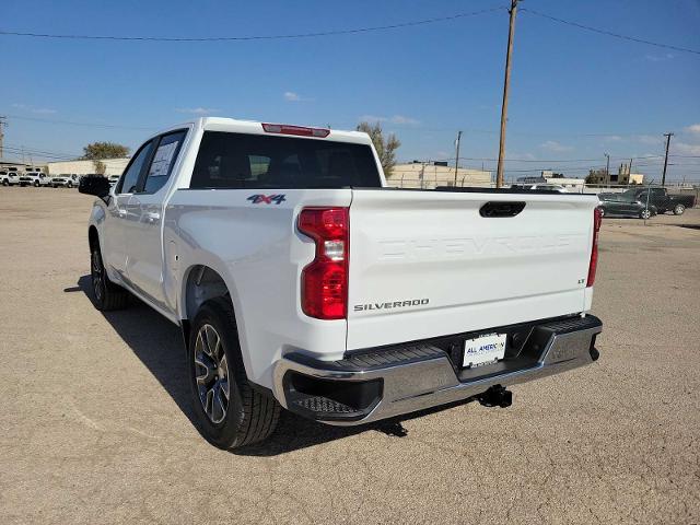
{"type": "MultiPolygon", "coordinates": [[[[491,186],[491,172],[481,170],[460,167],[457,171],[456,178],[456,185],[458,187],[479,186],[488,188],[491,186]]],[[[397,188],[424,189],[433,189],[435,186],[454,186],[455,167],[436,162],[396,164],[392,173],[387,175],[386,184],[397,188]]]]}

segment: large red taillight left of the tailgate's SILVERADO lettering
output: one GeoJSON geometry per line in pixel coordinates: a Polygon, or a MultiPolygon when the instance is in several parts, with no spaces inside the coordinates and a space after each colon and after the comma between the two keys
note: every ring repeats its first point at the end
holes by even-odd
{"type": "Polygon", "coordinates": [[[348,312],[348,208],[304,208],[299,231],[316,243],[316,257],[302,270],[302,311],[317,319],[345,319],[348,312]]]}

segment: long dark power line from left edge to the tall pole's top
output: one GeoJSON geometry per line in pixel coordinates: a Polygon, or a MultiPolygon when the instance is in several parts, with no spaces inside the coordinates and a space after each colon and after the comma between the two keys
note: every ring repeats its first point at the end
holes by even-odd
{"type": "Polygon", "coordinates": [[[23,33],[19,31],[0,31],[0,35],[25,36],[35,38],[63,38],[63,39],[91,39],[91,40],[128,40],[128,42],[242,42],[242,40],[278,40],[290,38],[315,38],[319,36],[352,35],[358,33],[371,33],[377,31],[399,30],[402,27],[413,27],[417,25],[435,24],[453,20],[466,19],[478,14],[491,13],[505,9],[498,8],[481,9],[468,13],[456,13],[447,16],[435,16],[432,19],[415,20],[399,24],[376,25],[370,27],[355,27],[350,30],[319,31],[313,33],[292,33],[282,35],[249,35],[249,36],[208,36],[208,37],[180,37],[180,36],[114,36],[114,35],[67,35],[50,33],[23,33]]]}

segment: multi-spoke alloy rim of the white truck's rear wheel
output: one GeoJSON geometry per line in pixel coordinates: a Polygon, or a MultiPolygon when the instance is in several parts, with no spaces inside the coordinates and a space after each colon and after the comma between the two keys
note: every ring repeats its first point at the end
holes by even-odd
{"type": "Polygon", "coordinates": [[[229,362],[217,329],[206,324],[197,332],[195,342],[195,380],[201,407],[218,424],[229,411],[229,362]]]}

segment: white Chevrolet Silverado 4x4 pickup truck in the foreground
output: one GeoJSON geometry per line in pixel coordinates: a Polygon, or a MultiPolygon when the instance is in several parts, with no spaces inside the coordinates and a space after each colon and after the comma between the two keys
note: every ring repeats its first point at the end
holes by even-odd
{"type": "Polygon", "coordinates": [[[597,197],[385,187],[370,138],[202,118],[149,139],[89,224],[94,303],[182,327],[199,430],[280,406],[360,424],[591,363],[597,197]]]}

